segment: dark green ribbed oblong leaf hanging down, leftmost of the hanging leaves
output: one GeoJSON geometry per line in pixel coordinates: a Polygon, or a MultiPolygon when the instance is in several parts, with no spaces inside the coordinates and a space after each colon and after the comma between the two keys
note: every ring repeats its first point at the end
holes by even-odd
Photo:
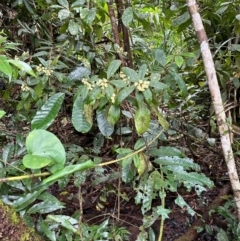
{"type": "Polygon", "coordinates": [[[78,97],[73,104],[72,123],[74,128],[82,133],[88,132],[92,124],[89,123],[84,114],[84,102],[81,97],[78,97]]]}

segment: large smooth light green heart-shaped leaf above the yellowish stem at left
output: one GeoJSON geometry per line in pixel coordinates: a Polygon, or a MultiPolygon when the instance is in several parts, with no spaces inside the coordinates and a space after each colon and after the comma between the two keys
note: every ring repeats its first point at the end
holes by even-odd
{"type": "Polygon", "coordinates": [[[26,139],[26,148],[28,151],[27,157],[23,158],[23,165],[27,168],[39,168],[45,164],[52,165],[48,169],[54,173],[64,167],[66,161],[66,154],[64,147],[60,140],[52,133],[46,130],[34,130],[29,133],[26,139]],[[32,163],[30,158],[32,155],[32,163]],[[43,157],[43,158],[38,158],[43,157]]]}

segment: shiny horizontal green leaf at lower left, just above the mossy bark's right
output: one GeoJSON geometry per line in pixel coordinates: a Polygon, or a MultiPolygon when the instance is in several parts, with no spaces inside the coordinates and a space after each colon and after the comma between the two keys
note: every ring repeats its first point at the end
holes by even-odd
{"type": "Polygon", "coordinates": [[[53,202],[53,201],[43,201],[33,205],[31,208],[28,209],[27,213],[51,213],[58,209],[65,208],[61,202],[53,202]]]}

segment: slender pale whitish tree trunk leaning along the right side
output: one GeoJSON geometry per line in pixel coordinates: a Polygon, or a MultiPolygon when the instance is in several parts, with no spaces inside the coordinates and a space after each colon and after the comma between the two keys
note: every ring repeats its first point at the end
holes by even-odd
{"type": "Polygon", "coordinates": [[[204,63],[205,72],[208,79],[208,86],[211,93],[212,103],[215,110],[217,125],[221,136],[222,150],[227,164],[228,175],[230,178],[231,186],[234,193],[234,199],[237,205],[238,220],[240,220],[240,183],[238,173],[234,161],[230,133],[228,124],[226,122],[226,114],[224,111],[220,88],[218,85],[215,66],[213,63],[212,54],[208,45],[208,38],[206,31],[203,27],[202,19],[198,13],[198,7],[195,0],[187,0],[187,6],[191,15],[193,25],[196,31],[202,58],[204,63]]]}

